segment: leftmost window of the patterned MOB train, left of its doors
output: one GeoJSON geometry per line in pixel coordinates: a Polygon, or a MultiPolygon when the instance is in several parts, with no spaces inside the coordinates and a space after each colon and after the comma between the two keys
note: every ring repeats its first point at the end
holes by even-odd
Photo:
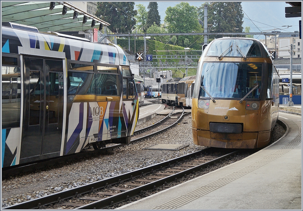
{"type": "Polygon", "coordinates": [[[20,126],[21,72],[17,58],[2,57],[2,128],[20,126]],[[14,67],[8,67],[11,65],[14,67]]]}

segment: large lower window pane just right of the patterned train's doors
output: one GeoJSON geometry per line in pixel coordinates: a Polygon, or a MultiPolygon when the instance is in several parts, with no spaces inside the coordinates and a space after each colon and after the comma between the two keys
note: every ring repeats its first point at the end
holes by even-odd
{"type": "MultiPolygon", "coordinates": [[[[88,95],[88,94],[95,95],[96,88],[95,88],[95,83],[93,83],[93,79],[94,79],[94,73],[68,71],[67,72],[68,101],[76,102],[77,99],[74,99],[76,95],[88,95]]],[[[85,100],[92,100],[92,98],[86,97],[85,100]]],[[[81,99],[80,101],[83,101],[83,99],[81,99]]]]}

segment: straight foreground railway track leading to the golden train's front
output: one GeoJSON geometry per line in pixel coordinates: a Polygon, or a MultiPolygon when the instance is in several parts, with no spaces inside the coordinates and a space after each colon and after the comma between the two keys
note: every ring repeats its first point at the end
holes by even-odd
{"type": "Polygon", "coordinates": [[[167,183],[177,181],[237,153],[238,151],[231,149],[206,148],[126,174],[3,209],[105,209],[117,203],[127,202],[134,197],[143,198],[148,190],[155,190],[167,183]]]}

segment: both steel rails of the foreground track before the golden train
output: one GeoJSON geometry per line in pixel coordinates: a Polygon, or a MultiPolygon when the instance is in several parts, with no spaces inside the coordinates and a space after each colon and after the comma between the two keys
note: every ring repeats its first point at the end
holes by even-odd
{"type": "MultiPolygon", "coordinates": [[[[22,202],[22,203],[14,204],[12,206],[8,206],[8,207],[2,208],[2,209],[35,209],[37,207],[42,208],[42,206],[46,206],[46,205],[49,205],[49,204],[60,203],[60,202],[62,202],[62,200],[67,200],[69,198],[72,198],[75,195],[86,194],[86,193],[89,193],[89,192],[97,190],[97,189],[102,189],[102,188],[108,187],[108,185],[115,185],[115,184],[120,183],[122,181],[127,181],[127,180],[129,180],[130,178],[133,178],[133,177],[139,177],[139,176],[144,175],[144,174],[152,173],[155,170],[160,170],[164,167],[169,167],[172,164],[177,164],[178,162],[188,160],[188,159],[193,158],[195,156],[199,156],[202,153],[206,154],[211,150],[215,150],[215,148],[205,148],[205,149],[202,149],[200,151],[196,151],[196,152],[193,152],[193,153],[190,153],[190,154],[187,154],[187,155],[183,155],[181,157],[177,157],[177,158],[174,158],[174,159],[171,159],[171,160],[168,160],[168,161],[163,161],[163,162],[155,164],[155,165],[144,167],[144,168],[141,168],[141,169],[138,169],[138,170],[134,170],[134,171],[125,173],[125,174],[117,175],[115,177],[110,177],[110,178],[105,179],[105,180],[101,180],[101,181],[97,181],[97,182],[94,182],[94,183],[89,183],[89,184],[86,184],[86,185],[82,185],[80,187],[75,187],[75,188],[72,188],[70,190],[65,190],[65,191],[61,191],[59,193],[54,193],[54,194],[51,194],[51,195],[48,195],[48,196],[43,196],[43,197],[40,197],[40,198],[37,198],[37,199],[28,200],[28,201],[25,201],[25,202],[22,202]]],[[[222,149],[220,149],[220,150],[222,150],[222,149]]],[[[188,175],[188,174],[191,174],[195,171],[202,170],[205,167],[216,164],[216,163],[224,160],[225,158],[228,158],[232,155],[235,155],[237,152],[238,151],[229,152],[228,154],[225,154],[225,155],[223,155],[221,157],[218,157],[214,160],[207,161],[207,162],[205,162],[203,164],[200,164],[200,165],[197,165],[193,168],[178,172],[176,174],[173,174],[173,175],[168,176],[168,177],[164,177],[164,178],[159,179],[159,180],[155,180],[151,183],[142,185],[140,187],[136,187],[136,188],[133,188],[131,190],[127,190],[125,192],[118,193],[114,196],[107,197],[105,199],[101,199],[101,200],[98,200],[96,202],[92,202],[90,204],[84,205],[84,206],[76,208],[76,209],[102,209],[102,208],[110,206],[112,203],[119,203],[119,202],[125,201],[129,197],[132,198],[132,197],[138,195],[142,190],[152,190],[156,187],[160,187],[165,182],[171,182],[171,181],[176,180],[176,178],[179,179],[181,177],[184,177],[185,174],[188,175]]]]}

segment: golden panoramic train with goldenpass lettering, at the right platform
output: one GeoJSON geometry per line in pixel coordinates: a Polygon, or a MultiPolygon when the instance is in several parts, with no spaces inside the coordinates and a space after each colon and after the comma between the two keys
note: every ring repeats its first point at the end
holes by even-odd
{"type": "Polygon", "coordinates": [[[279,75],[260,41],[220,38],[205,48],[192,96],[195,144],[265,147],[278,119],[278,107],[279,75]]]}

